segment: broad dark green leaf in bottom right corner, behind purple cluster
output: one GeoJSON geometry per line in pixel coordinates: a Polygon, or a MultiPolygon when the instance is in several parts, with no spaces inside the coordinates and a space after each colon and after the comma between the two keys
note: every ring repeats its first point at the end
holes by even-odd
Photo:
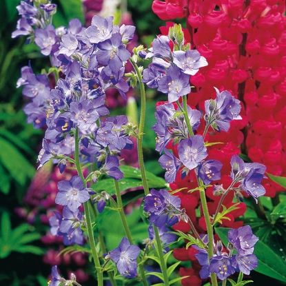
{"type": "MultiPolygon", "coordinates": [[[[227,245],[227,232],[229,229],[217,227],[215,230],[223,243],[227,245]]],[[[254,271],[286,282],[286,262],[281,258],[281,256],[276,254],[271,247],[262,241],[258,241],[254,246],[254,254],[258,258],[258,267],[254,269],[254,271]]]]}

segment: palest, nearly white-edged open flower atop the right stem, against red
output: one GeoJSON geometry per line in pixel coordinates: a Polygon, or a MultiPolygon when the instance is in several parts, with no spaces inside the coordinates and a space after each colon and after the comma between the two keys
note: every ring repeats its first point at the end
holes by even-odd
{"type": "Polygon", "coordinates": [[[199,68],[207,65],[207,60],[197,50],[174,51],[174,64],[181,68],[184,74],[194,75],[199,68]]]}

